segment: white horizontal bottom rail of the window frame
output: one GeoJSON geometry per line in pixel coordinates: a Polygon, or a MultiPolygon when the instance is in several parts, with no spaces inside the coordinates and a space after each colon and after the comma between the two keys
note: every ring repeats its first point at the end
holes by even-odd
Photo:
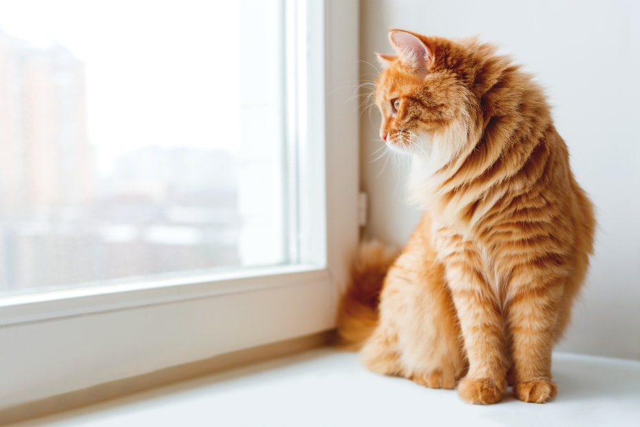
{"type": "Polygon", "coordinates": [[[332,271],[278,273],[12,298],[0,316],[0,342],[12,343],[0,366],[0,411],[331,329],[332,271]]]}

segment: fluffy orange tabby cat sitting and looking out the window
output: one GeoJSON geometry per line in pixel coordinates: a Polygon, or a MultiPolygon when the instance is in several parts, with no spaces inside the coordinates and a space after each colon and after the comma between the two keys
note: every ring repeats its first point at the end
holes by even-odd
{"type": "Polygon", "coordinates": [[[378,55],[380,136],[412,156],[409,197],[425,213],[397,258],[361,249],[339,333],[376,373],[457,384],[474,404],[500,401],[507,384],[547,402],[551,349],[593,251],[593,206],[518,65],[476,39],[392,30],[390,41],[396,55],[378,55]]]}

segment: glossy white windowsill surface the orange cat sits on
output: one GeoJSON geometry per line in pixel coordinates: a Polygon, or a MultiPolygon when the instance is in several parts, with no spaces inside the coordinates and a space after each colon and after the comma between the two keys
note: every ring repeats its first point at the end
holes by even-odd
{"type": "Polygon", "coordinates": [[[368,373],[321,348],[14,424],[27,426],[637,426],[640,362],[556,353],[555,401],[472,406],[454,391],[368,373]]]}

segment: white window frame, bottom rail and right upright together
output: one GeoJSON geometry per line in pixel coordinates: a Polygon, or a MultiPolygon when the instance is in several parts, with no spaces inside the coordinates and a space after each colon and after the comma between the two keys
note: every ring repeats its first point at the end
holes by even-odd
{"type": "MultiPolygon", "coordinates": [[[[316,264],[0,299],[0,410],[334,327],[358,240],[357,0],[312,0],[323,28],[310,155],[326,165],[316,264]],[[321,119],[323,118],[323,119],[321,119]],[[325,216],[326,218],[322,218],[325,216]],[[326,265],[326,267],[324,267],[326,265]]],[[[317,16],[317,15],[314,15],[317,16]]],[[[313,39],[312,37],[312,39],[313,39]]]]}

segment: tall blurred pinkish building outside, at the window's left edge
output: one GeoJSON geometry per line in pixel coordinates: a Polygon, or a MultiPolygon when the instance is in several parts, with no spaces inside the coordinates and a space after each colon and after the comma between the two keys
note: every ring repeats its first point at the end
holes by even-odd
{"type": "Polygon", "coordinates": [[[30,218],[94,197],[85,66],[61,45],[0,30],[0,217],[30,218]]]}

